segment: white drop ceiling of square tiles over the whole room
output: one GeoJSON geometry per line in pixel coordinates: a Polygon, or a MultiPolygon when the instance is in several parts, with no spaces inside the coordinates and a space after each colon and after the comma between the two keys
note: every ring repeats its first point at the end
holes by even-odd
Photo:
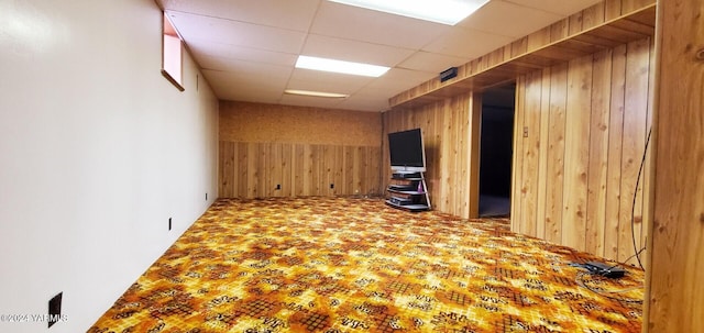
{"type": "Polygon", "coordinates": [[[391,97],[600,0],[491,0],[454,26],[327,0],[157,2],[221,100],[381,112],[391,97]],[[378,78],[299,69],[298,55],[392,69],[378,78]]]}

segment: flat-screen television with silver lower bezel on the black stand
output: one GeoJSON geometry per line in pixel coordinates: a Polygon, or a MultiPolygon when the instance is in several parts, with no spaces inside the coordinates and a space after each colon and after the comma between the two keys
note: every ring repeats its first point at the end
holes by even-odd
{"type": "Polygon", "coordinates": [[[395,171],[426,170],[426,154],[420,129],[388,133],[388,153],[395,171]]]}

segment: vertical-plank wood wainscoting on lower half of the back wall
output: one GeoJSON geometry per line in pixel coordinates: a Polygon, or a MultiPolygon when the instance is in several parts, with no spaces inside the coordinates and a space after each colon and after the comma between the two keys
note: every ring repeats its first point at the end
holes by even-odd
{"type": "Polygon", "coordinates": [[[220,197],[380,196],[381,147],[220,142],[220,197]]]}

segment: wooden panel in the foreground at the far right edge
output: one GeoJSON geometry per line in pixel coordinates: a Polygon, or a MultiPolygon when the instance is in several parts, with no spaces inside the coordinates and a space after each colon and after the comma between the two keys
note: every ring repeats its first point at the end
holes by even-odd
{"type": "Polygon", "coordinates": [[[704,2],[658,5],[653,269],[644,332],[704,332],[704,2]]]}

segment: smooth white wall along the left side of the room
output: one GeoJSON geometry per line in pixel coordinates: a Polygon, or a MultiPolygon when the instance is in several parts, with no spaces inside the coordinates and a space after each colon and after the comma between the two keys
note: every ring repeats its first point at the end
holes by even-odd
{"type": "Polygon", "coordinates": [[[0,0],[0,314],[63,291],[48,331],[85,332],[217,198],[218,100],[187,55],[184,92],[161,75],[161,26],[152,0],[0,0]]]}

